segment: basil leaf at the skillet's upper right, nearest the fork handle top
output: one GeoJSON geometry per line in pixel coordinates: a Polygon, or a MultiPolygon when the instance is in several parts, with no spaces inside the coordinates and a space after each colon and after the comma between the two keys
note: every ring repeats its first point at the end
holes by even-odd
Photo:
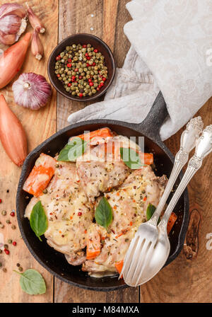
{"type": "Polygon", "coordinates": [[[134,151],[134,149],[121,147],[120,154],[126,166],[128,166],[132,170],[141,168],[141,166],[144,165],[141,163],[141,159],[139,158],[139,153],[134,151]]]}

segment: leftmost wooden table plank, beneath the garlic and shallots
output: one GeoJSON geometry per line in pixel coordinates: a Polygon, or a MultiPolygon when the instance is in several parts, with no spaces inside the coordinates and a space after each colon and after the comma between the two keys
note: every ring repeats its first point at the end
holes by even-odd
{"type": "MultiPolygon", "coordinates": [[[[14,2],[7,0],[6,2],[14,2]]],[[[25,1],[18,1],[20,4],[24,4],[25,1]]],[[[45,48],[45,57],[38,62],[35,57],[28,50],[28,54],[21,69],[22,72],[34,71],[36,74],[42,74],[47,76],[47,58],[54,46],[57,45],[57,16],[58,16],[58,1],[57,0],[28,0],[28,4],[32,6],[35,13],[37,13],[42,21],[45,23],[47,31],[41,36],[42,43],[45,48]]],[[[28,30],[32,31],[30,25],[28,30]]],[[[5,48],[5,47],[0,47],[5,48]]],[[[16,77],[16,79],[18,76],[16,77]]],[[[52,98],[49,103],[41,110],[33,111],[19,107],[14,103],[13,93],[11,90],[11,84],[6,88],[1,89],[0,93],[3,93],[6,97],[8,104],[11,106],[11,110],[18,116],[23,124],[25,132],[28,136],[28,151],[31,151],[42,141],[47,139],[56,130],[56,93],[52,94],[52,98]]],[[[13,127],[11,127],[12,129],[13,127]]],[[[0,197],[2,203],[0,204],[0,211],[6,209],[7,213],[11,212],[11,209],[16,208],[16,189],[18,185],[18,179],[20,175],[20,168],[15,166],[10,159],[6,156],[4,149],[0,144],[0,197]],[[7,192],[9,190],[9,192],[7,192]]],[[[0,302],[52,302],[53,301],[53,277],[49,274],[28,251],[25,243],[20,238],[20,231],[16,218],[12,218],[9,215],[4,217],[0,214],[0,221],[5,224],[4,229],[0,229],[0,232],[4,234],[5,242],[8,238],[17,241],[17,246],[10,246],[11,254],[0,255],[0,262],[7,268],[7,272],[4,273],[0,270],[0,302]],[[11,225],[5,224],[6,219],[11,219],[12,224],[16,224],[16,230],[11,229],[11,225]],[[28,268],[35,268],[45,278],[47,284],[47,292],[44,295],[30,296],[25,294],[19,285],[19,277],[13,272],[17,269],[16,263],[20,263],[23,270],[28,268]]]]}

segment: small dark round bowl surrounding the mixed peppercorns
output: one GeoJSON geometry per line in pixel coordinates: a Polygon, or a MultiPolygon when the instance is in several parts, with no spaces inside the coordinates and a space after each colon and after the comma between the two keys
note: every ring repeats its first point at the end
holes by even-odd
{"type": "Polygon", "coordinates": [[[66,98],[69,98],[71,100],[76,101],[88,101],[88,100],[94,100],[100,96],[102,96],[106,91],[107,88],[109,88],[110,84],[112,83],[112,80],[114,79],[115,74],[115,62],[114,57],[112,55],[112,52],[110,50],[110,47],[107,46],[105,42],[103,42],[100,38],[98,38],[95,35],[86,34],[86,33],[80,33],[80,34],[74,34],[71,36],[68,36],[68,38],[65,38],[62,40],[52,51],[52,54],[49,57],[48,61],[48,75],[49,80],[51,81],[54,88],[61,93],[66,98]],[[98,49],[99,52],[102,53],[102,55],[105,57],[105,64],[107,66],[108,71],[108,78],[107,81],[105,81],[105,85],[95,93],[93,96],[86,96],[86,97],[78,97],[78,96],[71,96],[71,93],[68,93],[61,81],[58,80],[57,75],[54,73],[55,69],[55,62],[56,57],[65,50],[66,46],[70,46],[72,44],[88,44],[92,45],[96,49],[98,49]]]}

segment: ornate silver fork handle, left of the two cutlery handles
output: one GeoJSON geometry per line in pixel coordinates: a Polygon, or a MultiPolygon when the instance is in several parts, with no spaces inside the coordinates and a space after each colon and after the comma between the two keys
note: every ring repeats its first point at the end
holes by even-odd
{"type": "Polygon", "coordinates": [[[182,170],[184,164],[187,163],[189,159],[189,152],[194,149],[196,140],[199,138],[199,134],[201,134],[203,127],[204,123],[202,122],[201,117],[194,117],[187,123],[187,128],[184,130],[184,132],[182,132],[180,139],[180,149],[175,156],[175,163],[172,173],[163,192],[163,196],[160,198],[158,207],[155,210],[153,217],[149,220],[149,223],[157,226],[158,219],[161,212],[163,211],[167,197],[170,195],[173,185],[177,180],[177,176],[182,170]]]}

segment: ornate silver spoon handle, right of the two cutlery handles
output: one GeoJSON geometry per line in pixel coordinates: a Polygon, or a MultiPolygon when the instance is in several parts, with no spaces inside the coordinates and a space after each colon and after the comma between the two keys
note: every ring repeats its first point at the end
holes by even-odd
{"type": "Polygon", "coordinates": [[[187,170],[184,173],[184,176],[179,183],[179,186],[173,195],[170,203],[167,206],[165,214],[158,225],[158,228],[162,230],[164,233],[166,232],[167,222],[170,219],[170,214],[172,210],[175,208],[179,197],[184,192],[184,189],[187,187],[189,181],[192,179],[194,174],[201,168],[201,164],[203,159],[212,151],[212,125],[208,125],[206,129],[204,129],[203,134],[196,142],[195,154],[192,156],[192,159],[189,160],[187,170]]]}

